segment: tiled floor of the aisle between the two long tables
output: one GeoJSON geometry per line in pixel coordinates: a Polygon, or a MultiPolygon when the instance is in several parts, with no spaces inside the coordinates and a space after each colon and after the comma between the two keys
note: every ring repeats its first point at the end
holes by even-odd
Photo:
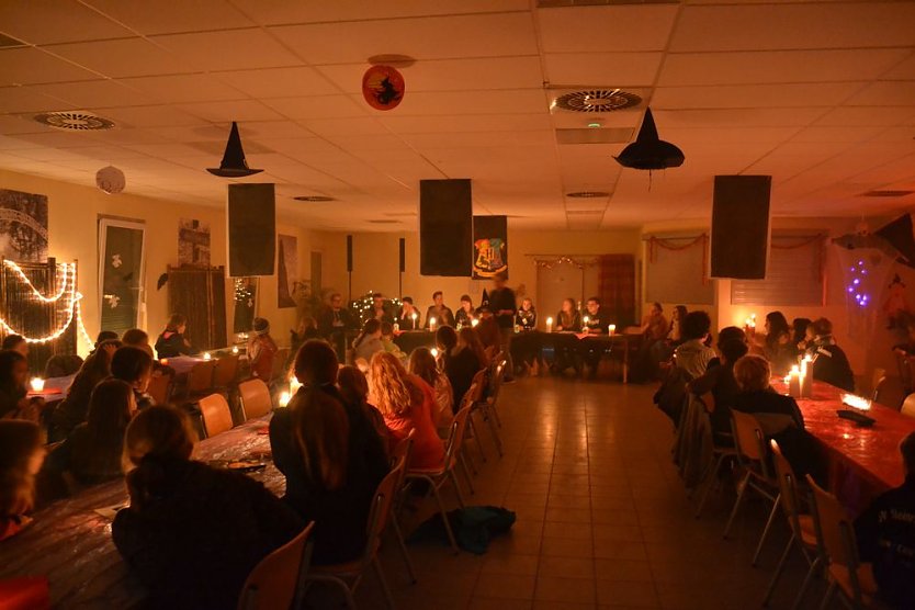
{"type": "MultiPolygon", "coordinates": [[[[669,421],[654,388],[610,382],[524,379],[502,387],[506,454],[479,463],[468,504],[518,513],[510,534],[482,556],[410,545],[419,581],[407,584],[388,544],[382,553],[398,608],[743,609],[759,607],[787,528],[779,517],[760,566],[749,565],[766,506],[750,502],[731,540],[722,531],[733,492],[713,495],[702,519],[670,463],[669,421]]],[[[471,447],[475,451],[475,447],[471,447]]],[[[454,505],[453,497],[447,501],[454,505]]],[[[789,608],[804,563],[792,557],[771,608],[789,608]]],[[[818,606],[816,583],[804,608],[818,606]]],[[[360,608],[383,608],[366,576],[360,608]]]]}

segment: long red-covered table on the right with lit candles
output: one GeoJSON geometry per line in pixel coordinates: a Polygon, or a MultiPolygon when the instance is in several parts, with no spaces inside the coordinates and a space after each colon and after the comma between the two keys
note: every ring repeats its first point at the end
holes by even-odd
{"type": "MultiPolygon", "coordinates": [[[[787,394],[784,383],[772,383],[787,394]]],[[[823,445],[829,462],[829,487],[854,513],[867,508],[886,489],[902,485],[905,472],[899,443],[915,432],[915,419],[883,405],[873,404],[867,413],[877,422],[862,428],[836,411],[850,407],[841,403],[845,392],[814,382],[812,398],[798,398],[804,427],[823,445]]]]}

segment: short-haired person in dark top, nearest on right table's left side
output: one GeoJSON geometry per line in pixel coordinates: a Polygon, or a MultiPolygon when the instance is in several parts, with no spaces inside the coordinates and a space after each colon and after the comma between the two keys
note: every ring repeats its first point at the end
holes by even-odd
{"type": "Polygon", "coordinates": [[[804,429],[804,416],[791,396],[778,394],[769,385],[772,370],[769,361],[761,355],[748,354],[734,363],[734,380],[741,393],[734,399],[733,408],[752,414],[759,421],[759,429],[766,437],[778,442],[794,474],[807,474],[823,481],[823,460],[820,448],[804,429]]]}

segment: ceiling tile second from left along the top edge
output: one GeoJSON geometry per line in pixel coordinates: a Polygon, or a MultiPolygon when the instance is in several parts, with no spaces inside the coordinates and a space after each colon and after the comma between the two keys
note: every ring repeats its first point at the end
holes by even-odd
{"type": "Polygon", "coordinates": [[[249,19],[225,0],[169,2],[168,5],[148,0],[82,1],[142,34],[205,32],[251,25],[249,19]]]}

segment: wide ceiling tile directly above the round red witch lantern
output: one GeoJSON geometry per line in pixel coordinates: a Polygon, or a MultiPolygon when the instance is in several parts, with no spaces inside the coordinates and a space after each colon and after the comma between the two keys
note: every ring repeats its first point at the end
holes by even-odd
{"type": "Polygon", "coordinates": [[[383,23],[352,21],[269,30],[314,65],[359,64],[384,53],[421,60],[535,55],[538,52],[529,13],[432,16],[383,23]]]}

